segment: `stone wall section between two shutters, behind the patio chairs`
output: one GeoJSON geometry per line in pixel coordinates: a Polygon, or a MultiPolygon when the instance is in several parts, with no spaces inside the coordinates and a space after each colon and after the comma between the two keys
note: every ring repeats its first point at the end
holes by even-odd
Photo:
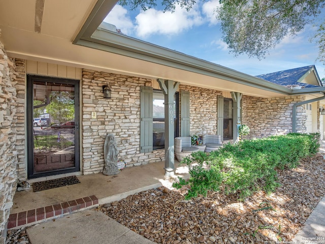
{"type": "Polygon", "coordinates": [[[190,134],[216,134],[217,95],[222,92],[186,85],[180,85],[179,90],[189,91],[190,134]]]}

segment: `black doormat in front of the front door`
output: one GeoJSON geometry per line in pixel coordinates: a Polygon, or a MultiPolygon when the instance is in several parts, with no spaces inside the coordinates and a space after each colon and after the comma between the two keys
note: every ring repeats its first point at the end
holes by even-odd
{"type": "Polygon", "coordinates": [[[48,181],[35,182],[32,184],[32,188],[34,192],[36,192],[36,191],[53,189],[61,186],[69,186],[77,183],[80,183],[77,177],[69,176],[69,177],[64,177],[59,179],[48,180],[48,181]]]}

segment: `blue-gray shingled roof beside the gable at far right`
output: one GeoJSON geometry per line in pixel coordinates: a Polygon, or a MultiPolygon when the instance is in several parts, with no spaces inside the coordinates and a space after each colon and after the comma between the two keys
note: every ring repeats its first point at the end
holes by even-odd
{"type": "Polygon", "coordinates": [[[306,73],[309,72],[311,69],[314,69],[314,72],[318,77],[315,65],[309,65],[309,66],[304,66],[299,68],[291,68],[291,69],[287,69],[286,71],[278,71],[278,72],[269,73],[265,75],[259,75],[256,77],[285,87],[298,86],[298,85],[300,86],[302,85],[305,88],[318,87],[315,85],[299,82],[300,78],[306,75],[306,73]]]}

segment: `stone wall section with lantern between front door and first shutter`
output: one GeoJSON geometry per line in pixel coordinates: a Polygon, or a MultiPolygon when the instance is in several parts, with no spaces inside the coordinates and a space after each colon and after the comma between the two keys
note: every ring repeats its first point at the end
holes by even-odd
{"type": "Polygon", "coordinates": [[[83,173],[104,168],[104,143],[115,135],[119,158],[127,167],[165,160],[165,150],[140,153],[140,86],[150,79],[83,70],[82,75],[83,173]],[[103,98],[102,85],[109,83],[112,98],[103,98]],[[91,112],[97,119],[91,119],[91,112]]]}

